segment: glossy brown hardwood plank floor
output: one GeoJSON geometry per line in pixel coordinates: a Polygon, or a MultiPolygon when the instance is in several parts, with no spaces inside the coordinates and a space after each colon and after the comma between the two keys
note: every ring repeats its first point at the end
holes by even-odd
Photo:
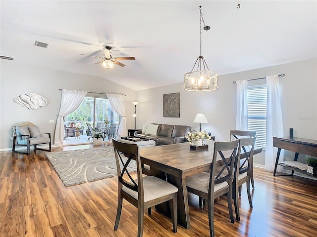
{"type": "MultiPolygon", "coordinates": [[[[53,151],[89,148],[67,146],[53,151]]],[[[137,210],[124,201],[117,231],[113,231],[117,203],[116,177],[64,187],[45,152],[29,156],[0,152],[1,237],[130,237],[137,235],[137,210]]],[[[250,209],[242,188],[240,222],[230,223],[227,201],[214,207],[216,237],[316,237],[317,181],[273,177],[254,168],[255,190],[250,209]]],[[[178,226],[156,210],[145,215],[144,237],[208,237],[208,211],[198,197],[189,196],[191,228],[178,226]]]]}

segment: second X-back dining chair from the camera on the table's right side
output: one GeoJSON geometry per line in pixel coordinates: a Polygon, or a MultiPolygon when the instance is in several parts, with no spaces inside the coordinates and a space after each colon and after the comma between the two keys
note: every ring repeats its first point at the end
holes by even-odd
{"type": "Polygon", "coordinates": [[[238,157],[235,160],[235,164],[234,164],[235,171],[234,171],[233,184],[232,184],[232,193],[233,193],[232,198],[234,201],[234,210],[236,213],[237,221],[240,221],[239,197],[241,196],[241,186],[244,183],[247,183],[247,194],[248,194],[249,204],[250,204],[250,208],[253,208],[251,192],[250,192],[250,176],[251,176],[251,167],[252,167],[251,164],[253,162],[254,144],[256,142],[256,138],[257,137],[240,138],[238,154],[241,154],[243,152],[246,158],[243,158],[242,160],[240,160],[240,158],[238,157]],[[248,147],[248,149],[246,149],[246,147],[248,147]],[[248,150],[248,152],[246,150],[248,150]]]}

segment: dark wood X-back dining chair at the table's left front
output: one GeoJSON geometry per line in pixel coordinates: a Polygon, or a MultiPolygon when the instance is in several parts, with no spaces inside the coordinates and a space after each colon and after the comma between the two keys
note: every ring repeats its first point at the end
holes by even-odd
{"type": "MultiPolygon", "coordinates": [[[[141,158],[137,144],[119,142],[112,139],[118,174],[118,206],[114,230],[118,229],[123,198],[138,208],[138,237],[143,235],[144,210],[169,201],[173,232],[177,232],[177,192],[170,183],[154,176],[142,176],[141,158]],[[136,161],[137,179],[133,179],[128,165],[136,161]]],[[[151,215],[151,211],[149,211],[151,215]]]]}

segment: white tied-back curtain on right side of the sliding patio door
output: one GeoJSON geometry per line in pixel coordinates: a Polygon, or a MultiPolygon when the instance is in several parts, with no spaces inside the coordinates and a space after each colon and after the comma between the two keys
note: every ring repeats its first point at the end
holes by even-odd
{"type": "Polygon", "coordinates": [[[126,136],[127,135],[127,124],[125,117],[125,104],[124,104],[124,95],[120,94],[106,94],[113,110],[121,116],[119,127],[118,127],[118,136],[126,136]]]}

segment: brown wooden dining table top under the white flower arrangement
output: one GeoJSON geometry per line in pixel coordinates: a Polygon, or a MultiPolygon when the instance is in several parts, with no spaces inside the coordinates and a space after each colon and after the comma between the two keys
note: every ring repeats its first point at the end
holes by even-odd
{"type": "MultiPolygon", "coordinates": [[[[208,150],[190,150],[188,142],[146,147],[140,149],[140,157],[142,162],[151,167],[185,178],[211,169],[214,143],[212,140],[208,142],[208,150]]],[[[261,147],[255,147],[254,154],[261,152],[261,147]]],[[[218,159],[221,159],[220,156],[218,159]]]]}

